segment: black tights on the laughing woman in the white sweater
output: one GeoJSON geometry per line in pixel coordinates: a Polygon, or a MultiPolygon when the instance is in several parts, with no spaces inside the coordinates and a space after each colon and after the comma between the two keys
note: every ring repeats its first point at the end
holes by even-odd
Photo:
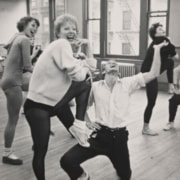
{"type": "Polygon", "coordinates": [[[33,102],[29,99],[24,104],[24,112],[31,129],[34,156],[33,170],[38,180],[45,180],[45,156],[50,135],[50,118],[57,116],[65,127],[73,124],[74,116],[68,102],[76,99],[76,118],[84,120],[91,85],[88,82],[73,82],[63,99],[56,106],[48,106],[33,102]]]}

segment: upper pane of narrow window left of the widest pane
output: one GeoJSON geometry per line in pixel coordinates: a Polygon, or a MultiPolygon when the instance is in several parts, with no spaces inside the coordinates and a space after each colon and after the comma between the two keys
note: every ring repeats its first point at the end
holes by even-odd
{"type": "Polygon", "coordinates": [[[89,0],[89,19],[99,19],[100,18],[100,0],[89,0]]]}

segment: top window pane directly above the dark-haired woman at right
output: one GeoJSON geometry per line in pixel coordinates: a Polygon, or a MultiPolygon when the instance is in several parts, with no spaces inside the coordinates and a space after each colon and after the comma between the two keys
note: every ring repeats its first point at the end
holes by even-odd
{"type": "Polygon", "coordinates": [[[151,11],[167,11],[168,0],[151,0],[151,11]]]}

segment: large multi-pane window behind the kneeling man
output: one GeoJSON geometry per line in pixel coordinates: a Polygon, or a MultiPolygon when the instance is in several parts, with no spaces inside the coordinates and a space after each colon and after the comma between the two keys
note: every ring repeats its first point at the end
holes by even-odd
{"type": "MultiPolygon", "coordinates": [[[[100,57],[144,58],[149,26],[166,28],[169,0],[86,0],[87,36],[100,57]]],[[[86,16],[85,16],[86,17],[86,16]]]]}

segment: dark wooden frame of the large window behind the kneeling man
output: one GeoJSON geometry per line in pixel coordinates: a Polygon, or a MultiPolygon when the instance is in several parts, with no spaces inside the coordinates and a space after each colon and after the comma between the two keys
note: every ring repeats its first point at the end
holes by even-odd
{"type": "MultiPolygon", "coordinates": [[[[84,1],[84,31],[83,34],[86,38],[88,34],[88,1],[84,1]]],[[[149,13],[150,13],[150,1],[151,0],[140,0],[140,31],[139,31],[139,55],[137,56],[128,56],[128,55],[109,55],[108,54],[108,47],[107,47],[107,3],[108,0],[100,0],[101,6],[100,6],[100,53],[94,54],[96,58],[118,58],[123,60],[143,60],[144,56],[146,54],[146,50],[148,47],[148,26],[149,26],[149,13]]],[[[169,33],[168,31],[168,25],[169,25],[169,9],[170,9],[170,0],[168,0],[167,4],[167,19],[166,19],[166,32],[167,35],[169,33]]]]}

